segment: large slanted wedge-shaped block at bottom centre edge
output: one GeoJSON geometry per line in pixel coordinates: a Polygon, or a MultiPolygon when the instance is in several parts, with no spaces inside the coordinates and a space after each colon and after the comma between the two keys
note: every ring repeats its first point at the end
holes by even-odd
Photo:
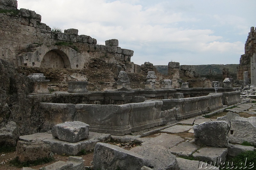
{"type": "Polygon", "coordinates": [[[116,145],[97,143],[93,153],[93,169],[140,169],[148,166],[148,161],[131,151],[122,149],[116,145]]]}

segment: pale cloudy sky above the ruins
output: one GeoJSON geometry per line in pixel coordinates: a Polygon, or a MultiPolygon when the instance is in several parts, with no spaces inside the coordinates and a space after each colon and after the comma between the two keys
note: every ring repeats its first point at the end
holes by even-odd
{"type": "Polygon", "coordinates": [[[255,0],[18,0],[18,8],[98,44],[118,39],[136,64],[238,64],[256,24],[255,0]]]}

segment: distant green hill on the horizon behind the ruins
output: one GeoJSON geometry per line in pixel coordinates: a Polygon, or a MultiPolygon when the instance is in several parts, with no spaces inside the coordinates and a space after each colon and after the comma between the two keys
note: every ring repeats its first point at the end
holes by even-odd
{"type": "MultiPolygon", "coordinates": [[[[195,66],[196,73],[199,75],[207,75],[209,70],[211,70],[211,74],[222,74],[222,69],[227,68],[230,74],[236,74],[236,67],[238,64],[207,64],[207,65],[193,65],[195,66]]],[[[155,65],[156,69],[162,73],[168,74],[168,66],[167,65],[155,65]]]]}

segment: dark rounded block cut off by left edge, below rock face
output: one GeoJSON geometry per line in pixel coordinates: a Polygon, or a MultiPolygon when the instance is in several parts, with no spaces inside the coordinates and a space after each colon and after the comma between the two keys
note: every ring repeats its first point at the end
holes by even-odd
{"type": "Polygon", "coordinates": [[[19,131],[15,122],[8,122],[6,126],[0,129],[1,146],[16,146],[19,140],[19,131]]]}

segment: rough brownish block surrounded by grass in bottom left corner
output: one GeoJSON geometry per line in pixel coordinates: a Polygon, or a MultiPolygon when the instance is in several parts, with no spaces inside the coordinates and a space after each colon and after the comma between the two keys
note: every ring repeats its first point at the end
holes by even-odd
{"type": "Polygon", "coordinates": [[[18,141],[16,155],[20,162],[35,161],[51,157],[51,147],[42,141],[18,141]]]}

